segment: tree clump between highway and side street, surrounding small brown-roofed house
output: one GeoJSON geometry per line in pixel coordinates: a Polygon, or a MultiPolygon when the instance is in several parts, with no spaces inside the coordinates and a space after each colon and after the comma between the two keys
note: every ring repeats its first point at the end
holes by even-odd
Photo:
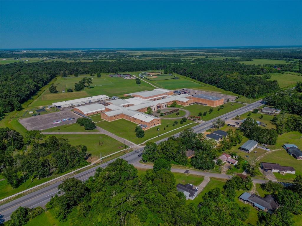
{"type": "Polygon", "coordinates": [[[155,162],[157,159],[165,159],[172,164],[187,165],[190,163],[196,169],[211,170],[214,168],[214,158],[223,151],[242,141],[242,133],[238,130],[228,131],[228,136],[223,138],[220,145],[213,139],[206,139],[203,134],[197,134],[193,129],[185,129],[178,138],[169,137],[168,140],[156,145],[154,142],[146,143],[142,160],[155,162]],[[195,151],[194,156],[188,160],[186,151],[195,151]]]}

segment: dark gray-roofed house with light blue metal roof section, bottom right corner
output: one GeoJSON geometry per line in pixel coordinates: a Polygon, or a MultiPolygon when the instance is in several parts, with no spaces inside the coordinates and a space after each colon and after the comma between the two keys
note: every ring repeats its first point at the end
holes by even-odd
{"type": "Polygon", "coordinates": [[[273,196],[267,195],[265,198],[257,196],[256,194],[249,194],[247,192],[239,196],[239,200],[252,205],[257,210],[272,213],[279,205],[275,202],[273,196]]]}

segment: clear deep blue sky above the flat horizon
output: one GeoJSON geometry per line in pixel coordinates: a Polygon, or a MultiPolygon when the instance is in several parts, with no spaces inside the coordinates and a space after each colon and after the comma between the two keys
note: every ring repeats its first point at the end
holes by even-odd
{"type": "Polygon", "coordinates": [[[302,44],[302,1],[1,1],[1,48],[302,44]]]}

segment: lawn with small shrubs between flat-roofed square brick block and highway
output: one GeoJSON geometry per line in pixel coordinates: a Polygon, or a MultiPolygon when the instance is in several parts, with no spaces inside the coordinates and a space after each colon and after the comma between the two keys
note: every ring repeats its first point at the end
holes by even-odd
{"type": "Polygon", "coordinates": [[[192,105],[183,107],[182,109],[188,110],[190,112],[190,115],[193,115],[193,116],[198,116],[199,112],[204,113],[205,111],[207,111],[207,115],[203,116],[202,120],[208,121],[210,119],[216,118],[225,113],[233,111],[237,108],[243,107],[244,105],[242,103],[228,102],[228,103],[223,104],[223,106],[224,106],[224,108],[220,109],[219,111],[218,111],[219,107],[209,107],[209,106],[204,106],[204,105],[200,105],[200,104],[192,104],[192,105]],[[213,108],[212,113],[209,113],[210,108],[213,108]]]}

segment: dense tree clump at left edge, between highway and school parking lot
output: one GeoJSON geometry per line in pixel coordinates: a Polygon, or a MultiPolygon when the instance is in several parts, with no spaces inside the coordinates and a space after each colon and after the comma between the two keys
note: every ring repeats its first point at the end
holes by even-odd
{"type": "Polygon", "coordinates": [[[0,170],[8,183],[17,188],[24,180],[48,177],[87,164],[87,147],[72,146],[67,139],[48,137],[38,130],[20,133],[0,128],[0,170]]]}

